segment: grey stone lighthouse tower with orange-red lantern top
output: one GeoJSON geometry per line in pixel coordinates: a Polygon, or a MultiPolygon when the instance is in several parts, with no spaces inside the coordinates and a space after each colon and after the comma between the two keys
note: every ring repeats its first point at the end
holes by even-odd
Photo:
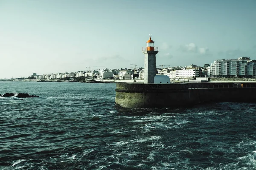
{"type": "Polygon", "coordinates": [[[147,47],[142,48],[143,54],[145,55],[144,64],[144,83],[154,83],[154,77],[156,75],[156,54],[158,53],[158,47],[154,47],[154,41],[149,40],[146,42],[147,47]]]}

